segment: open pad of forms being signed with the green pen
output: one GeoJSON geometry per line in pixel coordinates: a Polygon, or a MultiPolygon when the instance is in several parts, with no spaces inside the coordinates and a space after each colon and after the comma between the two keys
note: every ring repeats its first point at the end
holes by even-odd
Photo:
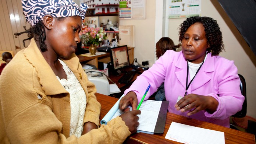
{"type": "MultiPolygon", "coordinates": [[[[122,97],[123,96],[124,95],[122,95],[122,97]]],[[[118,108],[121,98],[100,121],[101,124],[107,124],[109,120],[123,114],[123,112],[118,108]]],[[[141,110],[141,115],[138,115],[139,127],[137,132],[148,134],[163,133],[168,105],[169,101],[143,101],[141,107],[139,108],[139,110],[141,110]]],[[[132,109],[131,107],[129,108],[130,110],[132,109]]]]}

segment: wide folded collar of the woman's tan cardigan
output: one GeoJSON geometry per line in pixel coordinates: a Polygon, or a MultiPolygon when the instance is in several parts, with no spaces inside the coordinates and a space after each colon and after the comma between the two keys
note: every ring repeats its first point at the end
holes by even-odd
{"type": "MultiPolygon", "coordinates": [[[[29,46],[24,50],[24,55],[26,59],[34,66],[36,73],[38,74],[39,83],[42,85],[42,89],[43,91],[45,91],[46,95],[68,93],[68,91],[66,91],[61,83],[58,81],[51,67],[41,54],[34,38],[31,39],[29,46]]],[[[78,69],[78,65],[70,65],[72,61],[78,61],[79,63],[79,59],[75,56],[75,54],[72,55],[70,60],[71,61],[63,61],[68,65],[71,71],[73,71],[74,69],[78,69]]]]}

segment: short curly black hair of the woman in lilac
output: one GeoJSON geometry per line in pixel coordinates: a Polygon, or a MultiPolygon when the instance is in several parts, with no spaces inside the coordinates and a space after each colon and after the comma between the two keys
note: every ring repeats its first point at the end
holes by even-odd
{"type": "Polygon", "coordinates": [[[199,22],[205,27],[205,36],[207,42],[209,43],[209,48],[207,48],[206,53],[211,53],[211,56],[219,55],[224,49],[224,44],[222,40],[222,33],[217,21],[210,17],[189,17],[181,25],[179,25],[179,43],[181,43],[184,38],[186,30],[192,24],[199,22]]]}

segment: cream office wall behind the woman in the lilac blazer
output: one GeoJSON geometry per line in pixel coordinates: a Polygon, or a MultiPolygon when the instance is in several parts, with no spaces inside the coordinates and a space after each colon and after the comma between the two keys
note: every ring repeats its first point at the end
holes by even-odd
{"type": "MultiPolygon", "coordinates": [[[[146,19],[120,19],[120,25],[135,25],[135,53],[134,57],[141,63],[144,60],[149,60],[150,65],[153,64],[155,58],[155,35],[156,21],[158,17],[163,15],[158,14],[159,9],[156,6],[155,0],[146,1],[146,19]],[[157,9],[156,9],[157,8],[157,9]]],[[[247,115],[256,118],[256,56],[253,54],[250,47],[246,44],[243,37],[240,35],[228,15],[220,6],[217,0],[202,0],[201,16],[212,17],[217,20],[220,29],[223,33],[223,42],[225,51],[220,56],[233,60],[238,68],[238,73],[244,76],[247,89],[247,115]]],[[[175,44],[178,44],[178,26],[185,18],[169,19],[168,36],[173,39],[175,44]]],[[[164,27],[163,27],[164,28],[164,27]]],[[[156,32],[159,32],[156,30],[156,32]]]]}

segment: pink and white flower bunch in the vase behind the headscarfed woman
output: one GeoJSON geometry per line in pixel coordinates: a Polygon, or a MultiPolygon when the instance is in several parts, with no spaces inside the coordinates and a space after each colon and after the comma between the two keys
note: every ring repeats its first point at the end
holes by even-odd
{"type": "Polygon", "coordinates": [[[84,30],[81,30],[80,34],[82,35],[83,41],[87,46],[92,44],[99,46],[103,39],[107,39],[106,32],[99,27],[85,28],[84,30]]]}

